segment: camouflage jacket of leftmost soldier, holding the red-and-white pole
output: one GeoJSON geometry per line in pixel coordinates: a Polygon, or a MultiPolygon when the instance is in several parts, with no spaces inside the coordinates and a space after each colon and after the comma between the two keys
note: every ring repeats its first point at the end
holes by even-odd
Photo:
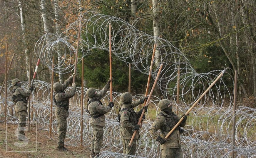
{"type": "Polygon", "coordinates": [[[18,113],[20,111],[26,111],[27,112],[27,99],[26,97],[29,97],[31,94],[31,90],[23,90],[19,86],[14,86],[13,87],[13,92],[12,94],[16,97],[16,104],[15,104],[15,112],[18,113]]]}

